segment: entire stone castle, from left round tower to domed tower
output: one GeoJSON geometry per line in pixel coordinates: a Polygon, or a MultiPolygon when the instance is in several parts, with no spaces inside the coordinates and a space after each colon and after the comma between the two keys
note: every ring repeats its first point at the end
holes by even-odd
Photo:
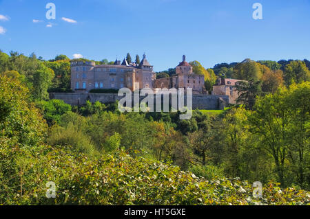
{"type": "Polygon", "coordinates": [[[176,75],[169,78],[156,79],[153,66],[149,64],[145,54],[140,64],[117,60],[114,65],[96,65],[94,61],[71,62],[71,88],[76,93],[89,93],[92,89],[171,89],[192,88],[193,93],[205,91],[205,78],[193,73],[193,67],[185,60],[176,67],[176,75]],[[138,83],[138,86],[137,86],[138,83]]]}

